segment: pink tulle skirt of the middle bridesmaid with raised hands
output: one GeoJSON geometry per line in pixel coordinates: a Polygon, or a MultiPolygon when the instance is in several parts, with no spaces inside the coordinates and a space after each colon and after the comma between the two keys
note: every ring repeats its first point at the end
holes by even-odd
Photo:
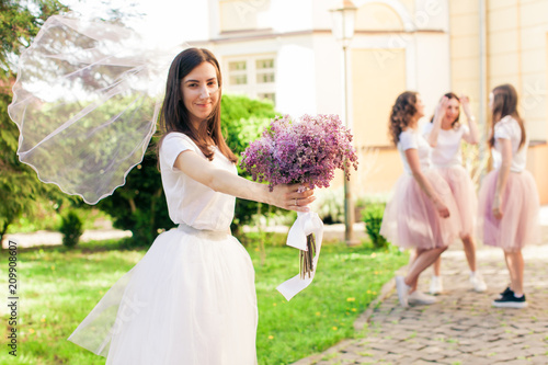
{"type": "Polygon", "coordinates": [[[473,237],[478,223],[478,197],[468,171],[459,164],[448,168],[436,168],[436,171],[449,184],[455,202],[457,203],[461,225],[460,237],[473,237]]]}

